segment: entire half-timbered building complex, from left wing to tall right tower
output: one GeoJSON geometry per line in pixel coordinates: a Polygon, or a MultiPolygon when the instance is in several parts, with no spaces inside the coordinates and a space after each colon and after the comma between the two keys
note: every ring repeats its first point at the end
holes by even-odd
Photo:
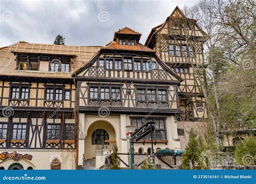
{"type": "Polygon", "coordinates": [[[0,48],[0,168],[99,168],[113,145],[129,166],[126,126],[147,122],[153,150],[149,135],[133,153],[184,149],[184,132],[206,117],[193,72],[206,34],[176,8],[145,45],[141,36],[124,27],[104,47],[0,48]]]}

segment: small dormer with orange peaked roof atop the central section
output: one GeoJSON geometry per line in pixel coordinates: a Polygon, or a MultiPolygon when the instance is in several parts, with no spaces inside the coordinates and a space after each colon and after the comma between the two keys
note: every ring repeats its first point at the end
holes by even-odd
{"type": "Polygon", "coordinates": [[[124,27],[114,32],[113,40],[116,41],[118,45],[136,46],[141,36],[142,34],[133,31],[129,27],[124,27]]]}

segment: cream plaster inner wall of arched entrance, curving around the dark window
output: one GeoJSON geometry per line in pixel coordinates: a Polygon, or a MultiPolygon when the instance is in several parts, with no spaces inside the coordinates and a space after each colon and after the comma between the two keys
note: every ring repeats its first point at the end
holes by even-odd
{"type": "Polygon", "coordinates": [[[92,141],[93,133],[95,133],[96,130],[100,130],[100,131],[97,131],[97,133],[98,132],[101,133],[102,137],[106,139],[108,138],[110,141],[116,140],[116,131],[114,130],[114,127],[112,126],[112,124],[103,120],[93,122],[87,129],[87,136],[84,141],[85,160],[96,157],[95,151],[99,141],[97,141],[97,143],[95,143],[95,141],[92,141]],[[107,135],[107,136],[104,136],[104,135],[107,135]]]}

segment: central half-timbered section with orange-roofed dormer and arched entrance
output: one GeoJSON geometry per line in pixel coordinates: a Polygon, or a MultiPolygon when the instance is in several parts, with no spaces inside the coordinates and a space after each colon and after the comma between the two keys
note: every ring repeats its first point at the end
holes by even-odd
{"type": "MultiPolygon", "coordinates": [[[[129,153],[126,125],[140,128],[149,121],[156,123],[155,148],[180,150],[174,116],[180,112],[177,93],[182,79],[155,51],[139,43],[140,36],[128,27],[120,29],[113,41],[73,73],[79,111],[78,165],[92,159],[96,168],[103,165],[113,144],[120,153],[129,153]]],[[[134,142],[133,152],[151,154],[150,137],[134,142]]],[[[127,155],[120,157],[129,163],[127,155]]]]}

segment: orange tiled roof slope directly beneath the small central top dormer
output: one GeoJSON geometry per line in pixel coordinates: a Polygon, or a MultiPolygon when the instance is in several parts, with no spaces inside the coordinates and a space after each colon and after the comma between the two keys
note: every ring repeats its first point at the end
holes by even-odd
{"type": "Polygon", "coordinates": [[[110,44],[106,45],[106,47],[103,47],[102,49],[154,52],[151,48],[140,43],[137,43],[137,45],[119,45],[116,41],[111,41],[110,44]]]}

